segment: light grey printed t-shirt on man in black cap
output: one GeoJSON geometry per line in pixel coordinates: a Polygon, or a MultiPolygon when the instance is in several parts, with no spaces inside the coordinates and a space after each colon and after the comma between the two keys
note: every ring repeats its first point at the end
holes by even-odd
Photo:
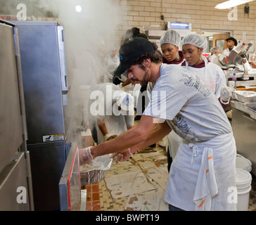
{"type": "Polygon", "coordinates": [[[167,120],[182,139],[191,143],[208,141],[232,131],[209,86],[179,65],[161,65],[160,78],[143,114],[167,120]]]}

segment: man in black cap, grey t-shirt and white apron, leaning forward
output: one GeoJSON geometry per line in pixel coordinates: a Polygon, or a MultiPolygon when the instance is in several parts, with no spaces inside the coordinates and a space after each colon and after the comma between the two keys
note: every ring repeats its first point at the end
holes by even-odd
{"type": "Polygon", "coordinates": [[[236,203],[229,201],[229,188],[236,187],[236,142],[209,86],[181,66],[162,63],[146,39],[127,41],[120,56],[115,75],[127,70],[128,77],[141,86],[154,82],[151,102],[136,127],[113,140],[79,150],[81,165],[110,153],[121,153],[120,158],[127,160],[173,129],[182,143],[165,190],[169,210],[236,210],[236,203]],[[160,98],[161,93],[165,97],[160,98]]]}

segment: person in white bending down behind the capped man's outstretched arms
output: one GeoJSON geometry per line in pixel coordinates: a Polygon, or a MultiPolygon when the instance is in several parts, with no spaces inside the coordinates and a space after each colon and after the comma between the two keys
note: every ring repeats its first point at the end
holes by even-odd
{"type": "Polygon", "coordinates": [[[90,94],[88,113],[91,134],[97,144],[134,127],[134,99],[115,84],[94,86],[90,94]]]}

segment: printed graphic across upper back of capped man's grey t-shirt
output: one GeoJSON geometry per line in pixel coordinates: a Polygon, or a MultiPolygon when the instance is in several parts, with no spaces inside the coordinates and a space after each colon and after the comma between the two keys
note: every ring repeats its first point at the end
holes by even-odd
{"type": "Polygon", "coordinates": [[[187,86],[193,86],[205,97],[209,96],[211,93],[211,89],[209,88],[209,86],[203,84],[200,78],[193,74],[182,72],[182,77],[179,82],[182,82],[187,86]]]}

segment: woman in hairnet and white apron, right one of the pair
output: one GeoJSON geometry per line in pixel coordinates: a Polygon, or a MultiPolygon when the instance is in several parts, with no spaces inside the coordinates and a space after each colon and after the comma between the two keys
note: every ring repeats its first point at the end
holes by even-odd
{"type": "MultiPolygon", "coordinates": [[[[182,51],[186,61],[181,64],[187,70],[196,73],[200,79],[203,79],[205,84],[215,93],[219,99],[222,108],[226,109],[230,105],[231,90],[226,86],[226,78],[224,72],[218,65],[210,63],[203,51],[207,49],[207,39],[200,34],[189,34],[182,40],[182,51]]],[[[207,107],[207,105],[205,105],[207,107]]],[[[169,150],[171,151],[172,158],[175,157],[178,150],[179,136],[172,134],[169,138],[169,150]]]]}

